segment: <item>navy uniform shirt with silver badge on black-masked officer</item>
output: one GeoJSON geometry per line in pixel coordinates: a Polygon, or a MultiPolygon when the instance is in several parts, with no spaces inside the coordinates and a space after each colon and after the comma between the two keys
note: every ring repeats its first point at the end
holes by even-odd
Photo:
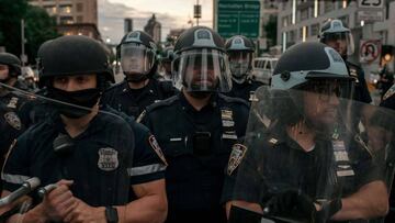
{"type": "Polygon", "coordinates": [[[4,190],[13,191],[31,177],[38,177],[42,186],[69,179],[74,196],[88,204],[116,205],[134,198],[133,185],[163,178],[159,147],[140,124],[99,113],[61,153],[54,150],[59,135],[67,133],[58,114],[22,134],[2,171],[4,190]]]}

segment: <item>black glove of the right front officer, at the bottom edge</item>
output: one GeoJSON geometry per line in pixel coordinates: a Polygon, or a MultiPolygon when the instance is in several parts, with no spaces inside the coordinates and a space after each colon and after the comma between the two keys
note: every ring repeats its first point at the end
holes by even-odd
{"type": "Polygon", "coordinates": [[[273,194],[262,205],[263,214],[276,216],[292,216],[313,222],[316,215],[316,208],[313,200],[297,190],[287,190],[273,194]]]}

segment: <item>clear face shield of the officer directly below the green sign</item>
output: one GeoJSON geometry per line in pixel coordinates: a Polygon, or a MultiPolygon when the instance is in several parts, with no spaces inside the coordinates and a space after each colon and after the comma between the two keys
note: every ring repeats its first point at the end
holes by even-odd
{"type": "Polygon", "coordinates": [[[229,52],[229,68],[234,78],[244,78],[251,68],[252,53],[250,52],[229,52]]]}

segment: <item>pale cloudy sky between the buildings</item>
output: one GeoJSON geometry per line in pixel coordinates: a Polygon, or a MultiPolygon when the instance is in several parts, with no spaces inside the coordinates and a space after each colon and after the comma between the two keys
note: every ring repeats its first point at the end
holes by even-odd
{"type": "MultiPolygon", "coordinates": [[[[170,29],[189,27],[193,19],[193,4],[196,0],[98,0],[99,30],[103,40],[119,43],[123,36],[124,18],[133,19],[133,29],[143,30],[148,19],[156,14],[162,25],[162,40],[170,29]]],[[[199,24],[212,26],[213,0],[200,0],[202,19],[199,24]]],[[[194,20],[195,22],[195,20],[194,20]]]]}

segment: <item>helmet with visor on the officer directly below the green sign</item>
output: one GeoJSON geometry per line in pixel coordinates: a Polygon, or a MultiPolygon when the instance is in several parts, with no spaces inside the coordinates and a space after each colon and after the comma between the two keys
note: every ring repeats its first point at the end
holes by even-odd
{"type": "Polygon", "coordinates": [[[255,44],[246,36],[236,35],[226,41],[225,48],[229,58],[232,78],[242,83],[252,69],[255,44]]]}

